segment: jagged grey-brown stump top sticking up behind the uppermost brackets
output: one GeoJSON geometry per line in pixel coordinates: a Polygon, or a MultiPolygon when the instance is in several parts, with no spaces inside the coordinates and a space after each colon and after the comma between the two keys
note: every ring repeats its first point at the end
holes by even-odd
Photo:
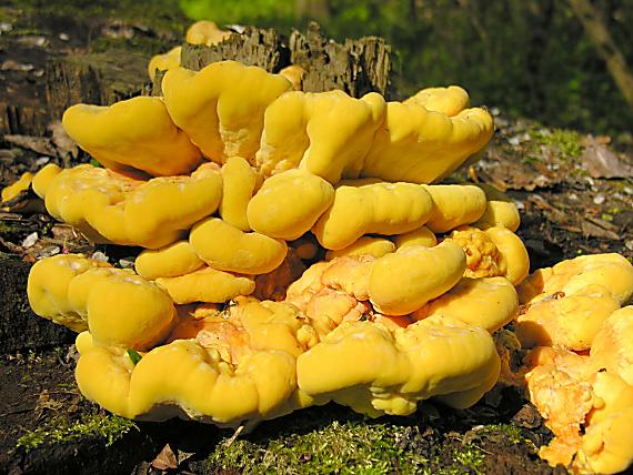
{"type": "MultiPolygon", "coordinates": [[[[374,91],[389,97],[391,47],[375,37],[345,40],[343,44],[328,40],[319,24],[310,23],[305,34],[294,30],[289,39],[274,30],[247,28],[223,42],[212,46],[184,44],[181,64],[192,70],[222,60],[237,60],[279,72],[290,64],[305,70],[303,90],[322,92],[340,89],[354,98],[374,91]]],[[[160,79],[153,93],[160,94],[160,79]]]]}

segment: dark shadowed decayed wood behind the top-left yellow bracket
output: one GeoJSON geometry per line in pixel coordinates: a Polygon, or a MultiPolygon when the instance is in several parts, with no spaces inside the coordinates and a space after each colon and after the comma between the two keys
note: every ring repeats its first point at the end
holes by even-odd
{"type": "Polygon", "coordinates": [[[49,60],[46,98],[51,120],[76,103],[107,105],[144,91],[148,57],[132,51],[77,54],[49,60]]]}

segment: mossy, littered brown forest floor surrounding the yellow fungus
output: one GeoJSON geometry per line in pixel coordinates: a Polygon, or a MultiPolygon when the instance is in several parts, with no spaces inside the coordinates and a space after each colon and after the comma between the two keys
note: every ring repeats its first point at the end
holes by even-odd
{"type": "MultiPolygon", "coordinates": [[[[88,14],[9,3],[0,8],[0,188],[80,156],[47,108],[50,61],[119,48],[147,60],[179,42],[187,24],[179,13],[138,7],[88,14]]],[[[586,253],[633,257],[633,143],[491,111],[498,131],[489,150],[456,178],[492,183],[515,200],[532,270],[586,253]]],[[[565,473],[537,457],[551,434],[512,388],[466,411],[425,402],[409,417],[368,420],[329,404],[238,437],[211,425],[107,414],[74,385],[72,334],[28,309],[26,275],[42,255],[100,252],[129,265],[135,251],[92,246],[40,210],[23,193],[0,212],[0,473],[565,473]]]]}

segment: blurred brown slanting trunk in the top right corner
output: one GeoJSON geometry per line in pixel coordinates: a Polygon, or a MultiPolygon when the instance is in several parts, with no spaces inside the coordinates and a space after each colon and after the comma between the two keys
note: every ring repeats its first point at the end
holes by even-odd
{"type": "Polygon", "coordinates": [[[606,21],[589,0],[570,0],[570,4],[597,53],[606,62],[606,68],[624,100],[633,108],[633,72],[626,64],[624,54],[613,42],[606,21]]]}

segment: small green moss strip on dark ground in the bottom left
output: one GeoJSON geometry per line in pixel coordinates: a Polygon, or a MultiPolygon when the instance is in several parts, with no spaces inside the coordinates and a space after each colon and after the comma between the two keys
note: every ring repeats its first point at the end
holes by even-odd
{"type": "Polygon", "coordinates": [[[74,442],[86,437],[102,439],[109,446],[133,428],[138,429],[132,421],[98,413],[84,414],[74,422],[58,417],[42,427],[28,431],[18,439],[17,447],[29,452],[42,445],[74,442]]]}

